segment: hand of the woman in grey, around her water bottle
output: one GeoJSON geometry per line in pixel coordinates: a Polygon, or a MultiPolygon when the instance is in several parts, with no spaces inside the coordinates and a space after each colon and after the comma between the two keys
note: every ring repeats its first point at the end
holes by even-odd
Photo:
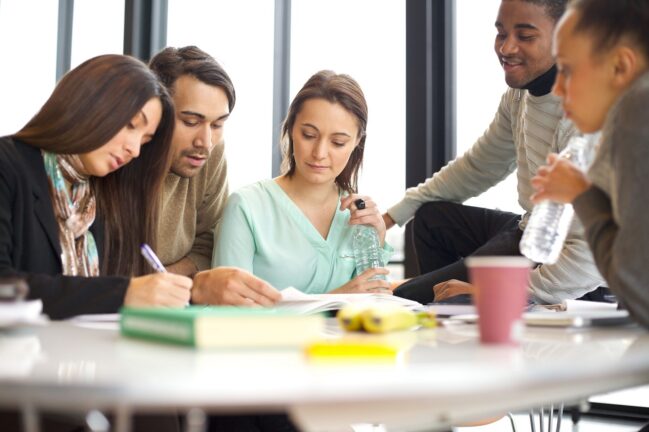
{"type": "Polygon", "coordinates": [[[532,177],[532,187],[536,193],[530,199],[535,204],[543,200],[570,203],[590,187],[590,181],[569,160],[551,153],[548,165],[540,167],[532,177]]]}

